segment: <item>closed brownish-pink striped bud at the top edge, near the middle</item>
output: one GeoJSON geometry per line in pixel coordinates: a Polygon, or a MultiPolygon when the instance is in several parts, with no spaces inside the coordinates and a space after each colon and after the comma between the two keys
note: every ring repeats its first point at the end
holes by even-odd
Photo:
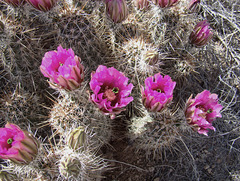
{"type": "Polygon", "coordinates": [[[106,12],[114,23],[121,23],[128,16],[125,0],[105,0],[106,12]]]}

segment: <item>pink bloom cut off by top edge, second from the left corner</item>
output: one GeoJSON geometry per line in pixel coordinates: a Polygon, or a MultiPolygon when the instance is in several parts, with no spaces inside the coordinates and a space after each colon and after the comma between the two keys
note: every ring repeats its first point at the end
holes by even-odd
{"type": "Polygon", "coordinates": [[[40,11],[49,11],[58,0],[27,0],[34,8],[40,11]]]}

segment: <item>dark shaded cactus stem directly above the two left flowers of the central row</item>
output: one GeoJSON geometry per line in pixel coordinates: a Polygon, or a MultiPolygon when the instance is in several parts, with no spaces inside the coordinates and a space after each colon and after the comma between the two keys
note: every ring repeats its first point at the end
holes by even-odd
{"type": "Polygon", "coordinates": [[[95,35],[93,25],[81,12],[62,14],[56,22],[58,29],[57,42],[63,47],[70,47],[89,67],[104,62],[105,45],[95,35]]]}

